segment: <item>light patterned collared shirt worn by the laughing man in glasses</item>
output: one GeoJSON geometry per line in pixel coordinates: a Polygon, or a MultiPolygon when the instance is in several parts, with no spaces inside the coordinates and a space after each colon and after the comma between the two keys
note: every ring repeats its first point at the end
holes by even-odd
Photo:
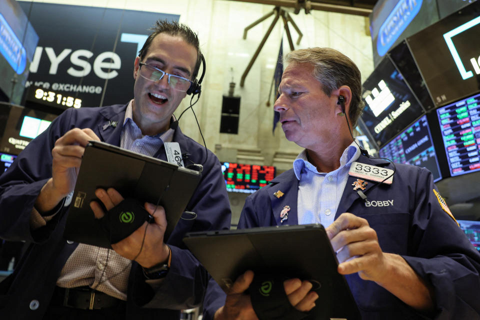
{"type": "MultiPolygon", "coordinates": [[[[132,101],[125,110],[120,147],[154,156],[164,142],[171,142],[175,130],[169,128],[154,136],[142,135],[133,122],[132,101]]],[[[114,250],[79,243],[63,266],[56,284],[61,287],[88,285],[98,291],[126,300],[131,261],[114,250]]]]}

